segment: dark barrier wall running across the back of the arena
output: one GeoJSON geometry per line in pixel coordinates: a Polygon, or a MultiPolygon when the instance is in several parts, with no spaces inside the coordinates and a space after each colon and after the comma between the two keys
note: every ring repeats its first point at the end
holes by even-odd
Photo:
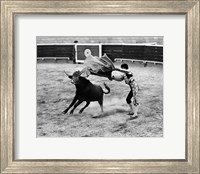
{"type": "MultiPolygon", "coordinates": [[[[115,58],[122,58],[163,62],[162,46],[102,44],[101,49],[102,55],[106,53],[112,61],[114,61],[115,58]]],[[[82,54],[79,53],[77,59],[83,60],[84,58],[79,55],[82,54]]],[[[68,57],[70,60],[73,60],[74,45],[38,45],[37,57],[68,57]]]]}

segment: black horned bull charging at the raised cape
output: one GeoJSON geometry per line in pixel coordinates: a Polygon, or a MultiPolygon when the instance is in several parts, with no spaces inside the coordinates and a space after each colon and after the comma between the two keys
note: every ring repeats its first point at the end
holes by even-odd
{"type": "Polygon", "coordinates": [[[71,83],[76,87],[76,94],[74,99],[72,100],[71,104],[63,111],[63,114],[66,114],[69,109],[73,106],[70,110],[70,114],[73,114],[74,110],[78,105],[82,102],[86,102],[85,106],[79,111],[82,113],[86,107],[89,106],[90,102],[97,101],[101,107],[101,112],[103,113],[103,95],[110,93],[110,88],[104,83],[106,88],[106,92],[103,91],[101,86],[94,85],[88,79],[81,77],[80,71],[75,71],[73,75],[69,75],[65,72],[65,74],[71,79],[71,83]]]}

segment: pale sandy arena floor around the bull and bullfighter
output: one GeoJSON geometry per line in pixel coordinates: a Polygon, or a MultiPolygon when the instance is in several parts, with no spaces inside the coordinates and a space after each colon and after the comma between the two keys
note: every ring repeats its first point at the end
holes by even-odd
{"type": "MultiPolygon", "coordinates": [[[[120,63],[115,64],[116,67],[120,63]]],[[[91,103],[82,114],[81,104],[73,115],[62,114],[75,95],[75,87],[64,74],[81,69],[79,64],[37,64],[37,137],[162,137],[163,136],[163,66],[130,63],[140,90],[138,118],[129,120],[126,96],[129,87],[124,82],[90,76],[102,85],[105,81],[111,93],[104,95],[105,113],[100,114],[97,102],[91,103]]]]}

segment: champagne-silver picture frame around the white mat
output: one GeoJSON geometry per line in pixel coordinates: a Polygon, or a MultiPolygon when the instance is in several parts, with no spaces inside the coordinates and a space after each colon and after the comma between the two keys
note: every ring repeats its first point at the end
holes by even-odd
{"type": "Polygon", "coordinates": [[[1,0],[1,173],[199,173],[199,0],[1,0]],[[186,159],[15,160],[17,14],[182,14],[186,16],[186,159]]]}

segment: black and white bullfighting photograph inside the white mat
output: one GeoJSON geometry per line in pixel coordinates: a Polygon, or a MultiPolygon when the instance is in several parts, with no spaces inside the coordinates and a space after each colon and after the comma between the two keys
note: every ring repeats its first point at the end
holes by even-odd
{"type": "Polygon", "coordinates": [[[163,137],[163,36],[37,36],[37,137],[163,137]]]}

